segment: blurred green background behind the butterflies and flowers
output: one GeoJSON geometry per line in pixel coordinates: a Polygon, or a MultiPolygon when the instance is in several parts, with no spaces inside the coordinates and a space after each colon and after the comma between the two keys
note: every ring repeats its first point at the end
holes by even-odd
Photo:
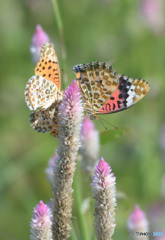
{"type": "MultiPolygon", "coordinates": [[[[122,240],[128,239],[126,220],[134,204],[140,205],[149,221],[155,206],[165,213],[165,207],[161,207],[165,159],[160,148],[165,122],[165,32],[163,27],[155,31],[140,3],[59,1],[68,84],[75,78],[73,65],[99,60],[112,64],[118,73],[143,78],[151,85],[147,96],[133,108],[103,117],[120,129],[129,129],[111,141],[111,134],[116,133],[107,125],[112,130],[110,140],[100,148],[100,156],[117,178],[117,191],[125,195],[117,200],[113,237],[122,240]]],[[[44,171],[58,146],[58,140],[49,133],[39,134],[30,127],[30,110],[24,100],[25,85],[34,75],[30,46],[36,25],[40,24],[55,44],[59,62],[61,44],[49,0],[0,1],[0,23],[0,239],[26,240],[33,208],[40,199],[46,203],[52,197],[44,171]]],[[[100,121],[95,124],[100,132],[104,131],[100,121]]],[[[82,187],[82,195],[88,197],[83,191],[82,187]]],[[[92,235],[93,207],[86,218],[92,235]]],[[[156,224],[152,226],[151,222],[150,230],[165,231],[165,219],[157,213],[154,220],[156,224]]]]}

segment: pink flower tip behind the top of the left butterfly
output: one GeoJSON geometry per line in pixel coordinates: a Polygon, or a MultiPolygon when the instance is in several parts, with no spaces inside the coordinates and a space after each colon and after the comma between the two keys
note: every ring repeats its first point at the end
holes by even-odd
{"type": "Polygon", "coordinates": [[[36,26],[36,31],[32,38],[32,46],[30,47],[30,51],[32,54],[33,62],[37,63],[40,58],[40,51],[42,48],[42,45],[45,42],[49,42],[48,35],[44,32],[42,27],[40,25],[36,26]]]}

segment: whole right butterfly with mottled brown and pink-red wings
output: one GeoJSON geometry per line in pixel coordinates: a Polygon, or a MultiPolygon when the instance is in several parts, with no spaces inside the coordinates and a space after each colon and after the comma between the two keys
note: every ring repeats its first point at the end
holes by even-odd
{"type": "Polygon", "coordinates": [[[79,64],[73,70],[85,112],[91,119],[98,119],[98,114],[119,112],[131,107],[150,89],[145,80],[117,74],[111,65],[103,62],[79,64]]]}

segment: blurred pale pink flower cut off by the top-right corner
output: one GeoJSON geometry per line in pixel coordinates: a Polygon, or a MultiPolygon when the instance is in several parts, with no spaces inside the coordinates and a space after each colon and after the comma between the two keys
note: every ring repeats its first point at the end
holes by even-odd
{"type": "Polygon", "coordinates": [[[142,13],[155,33],[162,31],[165,20],[162,0],[142,0],[142,13]]]}

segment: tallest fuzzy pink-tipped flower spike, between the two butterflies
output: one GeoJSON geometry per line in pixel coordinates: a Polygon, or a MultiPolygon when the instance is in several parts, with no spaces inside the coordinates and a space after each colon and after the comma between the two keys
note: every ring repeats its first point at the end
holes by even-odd
{"type": "Polygon", "coordinates": [[[80,147],[83,107],[76,81],[65,90],[59,106],[59,148],[53,179],[53,239],[65,240],[70,235],[72,216],[72,182],[80,147]]]}

